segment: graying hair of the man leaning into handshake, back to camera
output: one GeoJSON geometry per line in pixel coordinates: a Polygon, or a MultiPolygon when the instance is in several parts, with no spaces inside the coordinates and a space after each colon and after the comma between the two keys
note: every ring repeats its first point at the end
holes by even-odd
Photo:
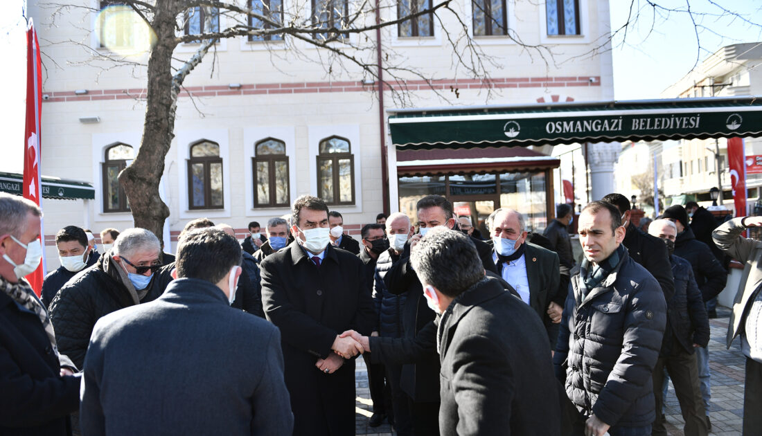
{"type": "Polygon", "coordinates": [[[471,238],[460,231],[434,228],[416,244],[410,264],[421,283],[456,297],[484,277],[484,266],[471,238]]]}

